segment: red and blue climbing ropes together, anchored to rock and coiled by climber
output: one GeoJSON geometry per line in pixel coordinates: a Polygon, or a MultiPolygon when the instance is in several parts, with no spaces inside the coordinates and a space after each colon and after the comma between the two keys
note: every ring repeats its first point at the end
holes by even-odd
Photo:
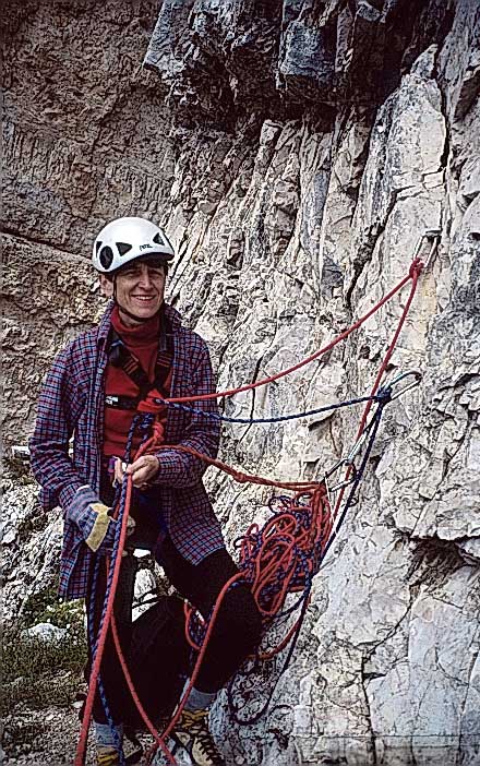
{"type": "MultiPolygon", "coordinates": [[[[434,238],[434,244],[429,255],[430,261],[434,249],[436,249],[437,234],[427,232],[425,236],[427,238],[434,238]]],[[[420,246],[418,252],[420,252],[420,246]]],[[[247,534],[240,540],[237,541],[236,544],[240,552],[240,571],[224,586],[223,590],[220,591],[217,598],[217,601],[214,605],[209,618],[207,620],[203,620],[195,612],[193,607],[185,605],[185,636],[192,648],[197,653],[197,657],[194,668],[190,675],[189,686],[187,691],[184,691],[182,699],[180,701],[170,723],[160,735],[158,734],[155,727],[146,716],[146,713],[142,707],[141,701],[139,699],[136,692],[133,687],[132,679],[130,677],[129,670],[127,668],[124,658],[121,653],[121,646],[118,638],[118,632],[112,612],[115,593],[119,578],[121,554],[123,551],[127,535],[127,522],[132,498],[132,479],[130,476],[124,479],[121,489],[119,490],[118,504],[116,508],[116,518],[118,523],[116,527],[116,538],[112,555],[108,563],[107,588],[103,614],[100,619],[100,625],[97,636],[91,636],[91,643],[93,647],[91,683],[87,699],[85,703],[83,726],[76,752],[75,766],[83,766],[84,764],[86,738],[92,716],[93,699],[97,685],[100,692],[100,697],[104,703],[107,719],[110,722],[110,725],[112,723],[111,715],[108,710],[108,704],[105,698],[105,693],[103,691],[101,679],[99,677],[101,655],[109,625],[111,625],[113,641],[117,647],[127,684],[130,689],[132,697],[137,706],[139,713],[142,719],[144,720],[146,728],[153,734],[155,740],[155,745],[149,751],[148,757],[153,757],[153,754],[159,746],[161,747],[169,763],[172,764],[176,763],[175,758],[169,753],[165,742],[175,729],[175,726],[181,716],[190,691],[195,684],[195,680],[200,667],[202,665],[208,645],[208,641],[212,635],[212,631],[215,626],[216,618],[220,609],[223,599],[227,594],[228,589],[235,587],[236,583],[238,583],[239,581],[249,583],[253,596],[256,600],[257,607],[263,617],[265,629],[268,629],[273,624],[274,620],[285,620],[295,611],[300,610],[299,617],[295,622],[293,626],[288,630],[286,636],[284,636],[284,638],[280,639],[278,646],[269,650],[260,648],[256,655],[255,661],[269,659],[276,654],[278,654],[280,650],[289,646],[281,672],[284,672],[285,669],[288,667],[288,663],[290,662],[290,659],[293,655],[302,621],[309,605],[313,578],[319,572],[320,566],[322,565],[323,560],[325,559],[325,555],[327,554],[329,548],[335,541],[338,531],[341,527],[341,524],[346,518],[348,510],[357,502],[357,490],[365,471],[365,467],[373,447],[373,443],[375,441],[384,407],[389,402],[398,398],[407,391],[410,391],[421,381],[421,374],[418,371],[413,370],[397,375],[387,384],[384,384],[382,386],[380,385],[385,370],[387,369],[401,327],[410,309],[422,268],[423,263],[416,258],[410,266],[408,275],[404,277],[404,279],[401,279],[401,282],[394,289],[392,289],[386,296],[384,296],[367,314],[361,316],[355,324],[352,324],[350,327],[340,333],[340,335],[334,338],[327,346],[320,349],[319,351],[315,351],[313,355],[302,360],[301,362],[295,364],[293,367],[290,367],[288,370],[284,370],[265,380],[256,381],[255,383],[251,383],[235,390],[224,391],[219,393],[190,397],[168,398],[153,396],[151,397],[149,402],[151,409],[146,414],[140,411],[135,416],[132,422],[132,428],[129,433],[129,440],[125,451],[125,462],[130,462],[131,459],[130,451],[133,443],[133,435],[135,433],[135,430],[140,428],[143,430],[144,438],[141,446],[136,452],[135,459],[143,454],[147,454],[148,452],[155,452],[156,454],[158,454],[164,448],[171,450],[173,447],[177,451],[185,452],[194,457],[197,457],[207,463],[208,465],[216,466],[217,468],[232,476],[237,481],[275,487],[283,490],[292,491],[295,494],[293,496],[286,496],[283,494],[279,496],[274,496],[268,504],[269,510],[272,512],[272,517],[263,525],[262,528],[260,528],[256,524],[251,525],[247,534]],[[171,407],[181,406],[182,408],[189,410],[193,409],[195,415],[201,414],[202,416],[211,417],[211,414],[207,414],[200,409],[195,409],[194,407],[192,408],[191,403],[213,398],[223,398],[227,396],[232,396],[233,394],[240,392],[251,391],[261,385],[265,385],[273,381],[279,380],[280,378],[289,374],[290,372],[299,370],[303,366],[314,361],[315,359],[319,359],[323,354],[336,346],[340,340],[347,338],[355,330],[360,327],[373,313],[375,313],[382,306],[384,306],[394,295],[401,290],[401,288],[410,279],[412,283],[410,294],[406,301],[405,308],[403,309],[393,339],[387,348],[385,358],[379,369],[372,391],[369,396],[360,397],[358,399],[351,399],[348,403],[334,404],[328,407],[319,408],[316,410],[298,412],[288,416],[280,416],[279,418],[261,418],[256,420],[247,420],[248,423],[278,422],[280,420],[287,419],[290,420],[305,418],[309,415],[327,411],[329,409],[334,410],[339,407],[348,406],[351,404],[365,403],[365,407],[363,410],[363,415],[360,421],[360,427],[358,429],[353,446],[344,457],[341,457],[337,462],[337,464],[333,468],[325,472],[324,477],[321,480],[286,482],[267,479],[259,476],[252,476],[239,471],[232,468],[231,466],[228,466],[227,464],[223,463],[221,460],[207,457],[206,455],[203,455],[196,452],[195,450],[192,450],[184,445],[167,445],[161,443],[163,427],[161,423],[159,423],[155,418],[155,407],[156,411],[158,411],[159,407],[165,407],[165,405],[171,407]],[[399,384],[401,384],[401,387],[398,387],[399,384]],[[187,403],[190,404],[187,405],[187,403]],[[375,409],[371,414],[372,407],[375,407],[375,409]],[[152,435],[148,438],[149,431],[152,432],[152,435]],[[158,444],[158,442],[160,443],[158,444]],[[357,467],[356,459],[359,457],[361,452],[361,462],[360,465],[357,467]],[[333,477],[338,470],[343,468],[346,469],[344,478],[339,481],[336,480],[334,483],[333,477]],[[344,493],[347,489],[348,495],[344,506],[340,508],[344,493]],[[337,495],[337,498],[336,502],[334,503],[333,501],[335,494],[337,495]],[[286,599],[290,594],[299,594],[299,596],[293,605],[286,606],[286,599]]],[[[229,422],[244,422],[243,419],[232,419],[227,418],[226,416],[215,417],[219,417],[220,420],[227,420],[229,422]]],[[[253,718],[249,718],[248,720],[241,719],[239,716],[239,709],[236,707],[233,701],[233,682],[235,680],[232,680],[228,686],[230,710],[233,717],[239,723],[243,725],[251,723],[257,720],[265,713],[269,703],[269,698],[267,699],[266,704],[262,707],[262,709],[254,715],[253,718]]],[[[120,763],[124,764],[125,762],[120,743],[118,749],[120,753],[120,763]]]]}

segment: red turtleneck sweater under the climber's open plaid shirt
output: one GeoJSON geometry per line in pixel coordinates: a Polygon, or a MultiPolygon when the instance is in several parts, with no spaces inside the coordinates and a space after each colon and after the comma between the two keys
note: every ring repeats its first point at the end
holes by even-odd
{"type": "MultiPolygon", "coordinates": [[[[156,314],[137,327],[128,327],[121,321],[118,307],[116,306],[111,314],[111,324],[113,330],[120,335],[127,348],[139,359],[148,375],[148,380],[153,382],[155,380],[155,363],[158,355],[158,336],[160,332],[159,314],[156,314]]],[[[165,388],[167,391],[170,388],[170,382],[171,370],[165,382],[165,388]]],[[[107,396],[117,394],[134,397],[139,395],[139,388],[121,368],[107,364],[105,373],[105,394],[107,396]]],[[[105,407],[104,455],[108,457],[110,455],[116,455],[123,458],[127,438],[135,414],[133,409],[105,407]]],[[[133,441],[134,450],[137,448],[140,441],[141,436],[139,434],[133,441]]]]}

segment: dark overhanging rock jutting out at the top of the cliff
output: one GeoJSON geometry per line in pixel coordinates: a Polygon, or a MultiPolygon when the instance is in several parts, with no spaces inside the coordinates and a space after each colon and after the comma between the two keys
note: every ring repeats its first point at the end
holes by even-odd
{"type": "Polygon", "coordinates": [[[431,41],[455,3],[408,0],[165,0],[145,58],[182,120],[301,116],[376,105],[431,41]],[[319,108],[320,107],[320,108],[319,108]]]}

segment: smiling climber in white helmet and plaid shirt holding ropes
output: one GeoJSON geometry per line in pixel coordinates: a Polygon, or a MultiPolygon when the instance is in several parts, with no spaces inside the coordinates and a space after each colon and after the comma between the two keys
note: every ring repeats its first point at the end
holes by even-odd
{"type": "MultiPolygon", "coordinates": [[[[113,484],[122,481],[123,471],[132,477],[134,494],[113,612],[127,663],[134,549],[151,550],[169,582],[205,619],[224,585],[238,572],[202,482],[205,464],[176,450],[184,445],[215,457],[218,420],[163,407],[157,414],[157,436],[171,447],[123,463],[128,447],[134,455],[141,441],[139,434],[132,436],[133,419],[139,411],[148,411],[155,397],[215,390],[206,344],[183,327],[179,313],[164,301],[173,256],[165,232],[143,218],[119,218],[101,229],[93,265],[104,295],[111,300],[98,326],[81,334],[57,357],[40,394],[31,440],[44,507],[60,504],[63,510],[60,595],[86,600],[91,660],[107,589],[105,558],[111,553],[117,525],[110,513],[113,484]]],[[[206,399],[195,407],[216,412],[217,406],[215,399],[206,399]]],[[[208,709],[218,690],[254,651],[260,636],[259,609],[248,585],[239,583],[221,602],[195,685],[173,732],[173,741],[188,752],[192,764],[224,763],[209,733],[208,709]]],[[[168,663],[168,657],[154,659],[168,663]]],[[[129,704],[130,692],[109,630],[93,706],[97,763],[103,766],[122,763],[129,704]]]]}

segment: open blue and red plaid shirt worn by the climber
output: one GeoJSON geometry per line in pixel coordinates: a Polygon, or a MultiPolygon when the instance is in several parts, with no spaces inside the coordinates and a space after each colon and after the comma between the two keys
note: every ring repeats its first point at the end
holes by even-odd
{"type": "MultiPolygon", "coordinates": [[[[87,593],[92,556],[68,511],[76,490],[89,484],[100,490],[101,439],[104,433],[104,373],[108,363],[108,335],[112,304],[98,327],[82,333],[57,357],[47,375],[38,403],[35,431],[29,442],[32,468],[41,486],[46,511],[60,504],[64,515],[60,566],[60,595],[67,599],[87,593]],[[73,455],[69,442],[73,434],[73,455]]],[[[194,396],[215,391],[205,342],[182,326],[179,313],[166,306],[173,332],[171,396],[194,396]]],[[[161,344],[160,344],[161,345],[161,344]]],[[[217,411],[215,399],[197,402],[195,409],[217,411]]],[[[215,457],[219,423],[195,412],[169,408],[166,444],[192,446],[215,457]]],[[[172,447],[158,453],[156,479],[159,506],[178,551],[196,564],[224,547],[220,524],[202,482],[205,464],[172,447]]]]}

